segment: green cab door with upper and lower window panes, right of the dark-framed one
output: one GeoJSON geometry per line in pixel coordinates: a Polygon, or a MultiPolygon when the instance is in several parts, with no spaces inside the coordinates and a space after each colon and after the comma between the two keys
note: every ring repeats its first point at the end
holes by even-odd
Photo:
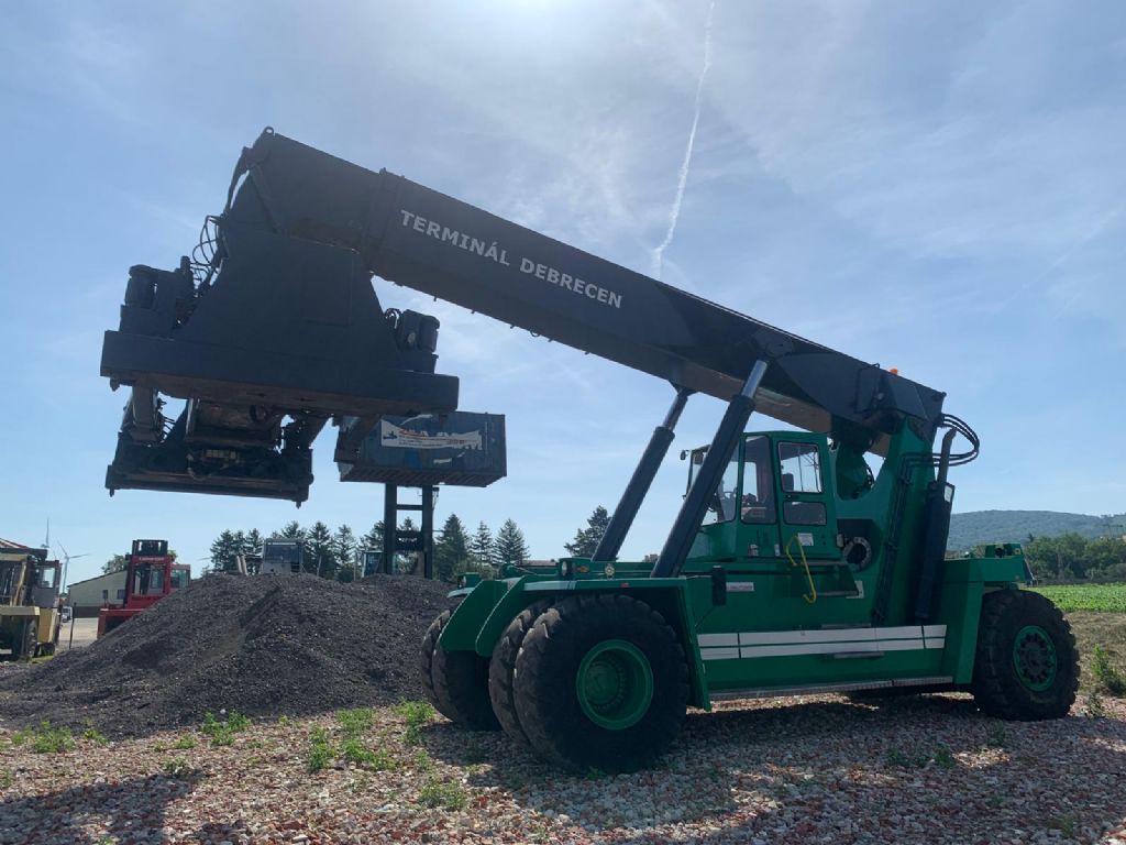
{"type": "Polygon", "coordinates": [[[797,557],[801,545],[806,558],[840,558],[825,438],[787,432],[771,439],[778,468],[783,554],[788,548],[797,557]]]}

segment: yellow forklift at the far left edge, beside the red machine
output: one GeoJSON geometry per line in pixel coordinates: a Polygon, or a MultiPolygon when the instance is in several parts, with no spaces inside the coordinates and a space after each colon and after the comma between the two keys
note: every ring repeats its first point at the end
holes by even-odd
{"type": "Polygon", "coordinates": [[[55,653],[62,625],[60,566],[45,549],[0,550],[0,652],[12,660],[55,653]]]}

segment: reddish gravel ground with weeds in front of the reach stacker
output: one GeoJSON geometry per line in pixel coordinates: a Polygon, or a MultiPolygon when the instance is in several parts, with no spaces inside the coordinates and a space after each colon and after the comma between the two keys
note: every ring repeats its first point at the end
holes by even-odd
{"type": "Polygon", "coordinates": [[[745,702],[691,713],[661,768],[586,779],[421,706],[260,721],[231,745],[187,729],[37,754],[0,730],[0,843],[1126,843],[1126,700],[1103,708],[1001,723],[957,695],[745,702]]]}

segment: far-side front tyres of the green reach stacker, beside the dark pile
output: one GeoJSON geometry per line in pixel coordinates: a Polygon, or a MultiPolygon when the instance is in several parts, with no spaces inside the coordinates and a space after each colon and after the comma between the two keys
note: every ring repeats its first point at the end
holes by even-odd
{"type": "Polygon", "coordinates": [[[453,616],[443,612],[422,638],[422,684],[438,712],[470,730],[497,730],[489,701],[489,659],[475,651],[446,651],[438,644],[453,616]]]}

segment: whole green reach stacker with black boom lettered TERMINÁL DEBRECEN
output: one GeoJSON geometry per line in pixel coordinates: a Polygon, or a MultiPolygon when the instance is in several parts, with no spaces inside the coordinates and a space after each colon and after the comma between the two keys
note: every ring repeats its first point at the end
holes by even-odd
{"type": "Polygon", "coordinates": [[[384,311],[373,276],[676,391],[591,558],[471,579],[430,626],[423,683],[454,722],[620,772],[722,699],[969,691],[993,717],[1067,713],[1074,639],[1020,589],[1020,546],[946,558],[948,473],[978,442],[942,393],[272,130],[193,258],[129,272],[102,349],[132,389],[107,487],[300,502],[329,420],[347,466],[383,415],[455,410],[438,321],[384,311]],[[727,402],[715,437],[683,453],[656,562],[618,560],[692,393],[727,402]],[[748,433],[756,410],[801,430],[748,433]]]}

